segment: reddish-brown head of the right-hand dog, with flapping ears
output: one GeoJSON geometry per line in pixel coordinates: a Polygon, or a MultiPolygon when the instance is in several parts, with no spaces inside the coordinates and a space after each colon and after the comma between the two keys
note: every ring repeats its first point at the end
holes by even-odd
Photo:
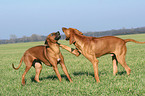
{"type": "Polygon", "coordinates": [[[66,36],[66,40],[69,40],[70,41],[70,44],[74,43],[74,34],[80,34],[80,35],[83,35],[82,32],[80,32],[79,30],[75,29],[75,28],[65,28],[63,27],[62,28],[62,31],[64,32],[65,36],[66,36]]]}

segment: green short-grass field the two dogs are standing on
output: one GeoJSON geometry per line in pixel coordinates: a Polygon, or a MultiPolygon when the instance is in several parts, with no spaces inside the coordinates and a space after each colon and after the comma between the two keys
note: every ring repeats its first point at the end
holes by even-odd
{"type": "MultiPolygon", "coordinates": [[[[131,38],[145,41],[145,34],[118,36],[123,39],[131,38]]],[[[60,40],[69,45],[68,41],[60,40]]],[[[96,83],[92,64],[82,55],[75,57],[68,51],[61,49],[68,72],[73,80],[70,83],[60,65],[59,72],[62,82],[59,82],[51,67],[43,64],[40,83],[34,81],[35,69],[32,67],[26,74],[26,85],[21,85],[21,76],[25,69],[23,63],[17,67],[23,53],[30,47],[42,45],[44,42],[30,42],[0,45],[0,96],[143,96],[145,95],[145,44],[127,43],[126,62],[131,68],[131,75],[127,76],[125,69],[119,64],[118,74],[113,76],[112,58],[105,55],[99,58],[100,83],[96,83]]],[[[71,47],[74,47],[71,45],[71,47]]]]}

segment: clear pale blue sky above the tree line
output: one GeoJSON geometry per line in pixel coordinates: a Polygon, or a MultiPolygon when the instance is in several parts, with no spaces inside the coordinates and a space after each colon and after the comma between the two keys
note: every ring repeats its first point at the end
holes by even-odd
{"type": "Polygon", "coordinates": [[[0,0],[0,40],[145,26],[145,0],[0,0]]]}

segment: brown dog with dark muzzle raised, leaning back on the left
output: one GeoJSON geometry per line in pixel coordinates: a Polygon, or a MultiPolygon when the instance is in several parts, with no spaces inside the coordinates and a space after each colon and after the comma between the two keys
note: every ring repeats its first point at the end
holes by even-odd
{"type": "Polygon", "coordinates": [[[13,68],[16,70],[20,68],[22,61],[24,61],[26,65],[25,72],[22,75],[22,85],[25,85],[25,75],[32,66],[34,66],[36,70],[35,80],[37,82],[40,82],[39,74],[42,69],[41,62],[45,63],[47,66],[52,66],[59,81],[61,81],[61,76],[57,68],[57,64],[60,63],[67,78],[69,79],[70,82],[72,82],[67,72],[67,68],[64,64],[64,59],[60,52],[59,44],[57,43],[60,37],[61,36],[59,32],[51,33],[50,35],[48,35],[45,41],[46,46],[40,45],[28,49],[22,56],[18,68],[15,68],[14,65],[12,64],[13,68]]]}

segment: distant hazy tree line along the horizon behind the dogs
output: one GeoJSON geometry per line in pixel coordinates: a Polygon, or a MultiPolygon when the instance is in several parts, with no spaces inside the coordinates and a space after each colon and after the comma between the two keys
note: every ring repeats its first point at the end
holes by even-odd
{"type": "MultiPolygon", "coordinates": [[[[127,35],[127,34],[142,34],[142,33],[145,33],[145,27],[131,28],[131,29],[122,28],[119,30],[108,30],[108,31],[101,31],[101,32],[86,32],[83,34],[85,36],[101,37],[101,36],[115,36],[115,35],[127,35]]],[[[44,41],[46,37],[47,36],[32,34],[30,37],[23,36],[22,38],[17,38],[16,35],[11,35],[9,40],[0,40],[0,44],[44,41]]],[[[61,35],[61,39],[65,39],[65,35],[61,35]]]]}

